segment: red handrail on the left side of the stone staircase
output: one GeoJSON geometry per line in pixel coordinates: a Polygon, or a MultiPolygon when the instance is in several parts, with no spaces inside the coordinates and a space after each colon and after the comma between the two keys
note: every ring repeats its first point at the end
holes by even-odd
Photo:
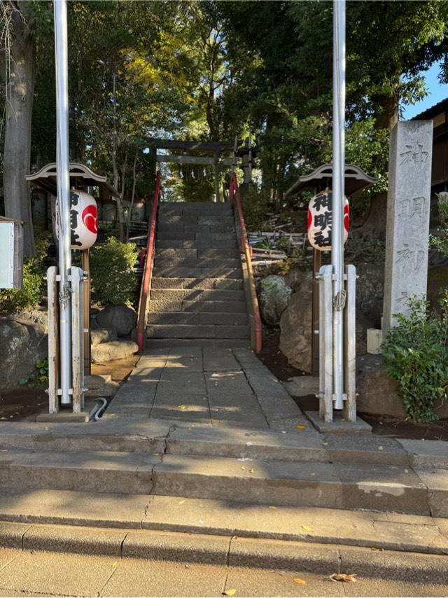
{"type": "Polygon", "coordinates": [[[149,219],[148,228],[148,246],[146,248],[146,258],[144,263],[143,277],[141,279],[139,315],[137,317],[137,344],[139,351],[145,348],[145,328],[146,328],[146,308],[148,305],[148,295],[151,287],[151,277],[153,275],[153,261],[155,249],[155,225],[157,223],[157,209],[160,200],[160,170],[155,177],[155,188],[153,197],[153,209],[149,219]]]}

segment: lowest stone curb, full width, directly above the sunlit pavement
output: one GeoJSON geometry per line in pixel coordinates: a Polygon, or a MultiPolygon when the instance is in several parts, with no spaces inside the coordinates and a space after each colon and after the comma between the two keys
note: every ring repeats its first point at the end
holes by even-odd
{"type": "Polygon", "coordinates": [[[346,545],[0,522],[0,545],[17,550],[246,566],[446,584],[448,556],[346,545]]]}

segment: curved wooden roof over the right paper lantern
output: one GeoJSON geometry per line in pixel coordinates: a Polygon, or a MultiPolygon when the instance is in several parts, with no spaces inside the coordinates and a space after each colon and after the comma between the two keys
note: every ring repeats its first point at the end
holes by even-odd
{"type": "MultiPolygon", "coordinates": [[[[284,193],[284,197],[295,197],[300,193],[300,191],[307,187],[316,187],[319,190],[325,188],[325,186],[331,188],[332,176],[332,164],[324,164],[319,166],[310,174],[300,176],[300,178],[297,179],[292,186],[290,186],[286,193],[284,193]]],[[[360,167],[353,164],[345,165],[344,181],[345,195],[353,195],[357,191],[377,183],[377,179],[374,179],[372,176],[368,176],[368,174],[365,174],[363,169],[360,169],[360,167]]]]}

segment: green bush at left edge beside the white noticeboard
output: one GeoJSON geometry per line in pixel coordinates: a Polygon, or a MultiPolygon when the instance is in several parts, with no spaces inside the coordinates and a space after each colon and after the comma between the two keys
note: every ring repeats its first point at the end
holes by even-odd
{"type": "Polygon", "coordinates": [[[17,314],[41,303],[45,294],[45,265],[51,234],[48,230],[34,231],[36,256],[25,258],[22,290],[4,288],[0,291],[0,316],[17,314]]]}

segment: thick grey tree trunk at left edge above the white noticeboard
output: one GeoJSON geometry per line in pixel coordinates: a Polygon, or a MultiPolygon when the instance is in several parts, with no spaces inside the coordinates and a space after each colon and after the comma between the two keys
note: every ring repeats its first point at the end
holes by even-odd
{"type": "MultiPolygon", "coordinates": [[[[36,71],[36,20],[31,3],[11,3],[13,39],[10,72],[6,80],[6,132],[3,154],[5,214],[23,221],[24,251],[35,253],[31,197],[25,175],[29,174],[31,114],[36,71]]],[[[5,57],[8,60],[8,57],[5,57]]]]}

